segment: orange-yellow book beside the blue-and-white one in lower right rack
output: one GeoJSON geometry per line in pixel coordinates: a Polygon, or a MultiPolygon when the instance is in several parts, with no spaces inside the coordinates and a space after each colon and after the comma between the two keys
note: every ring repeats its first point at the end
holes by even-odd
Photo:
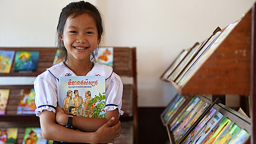
{"type": "Polygon", "coordinates": [[[204,144],[213,144],[214,142],[216,142],[216,140],[218,140],[218,138],[221,136],[221,134],[227,129],[227,127],[229,127],[229,125],[231,124],[231,121],[225,117],[223,119],[223,121],[221,121],[218,125],[218,128],[216,128],[211,135],[208,136],[208,138],[206,138],[204,144]]]}

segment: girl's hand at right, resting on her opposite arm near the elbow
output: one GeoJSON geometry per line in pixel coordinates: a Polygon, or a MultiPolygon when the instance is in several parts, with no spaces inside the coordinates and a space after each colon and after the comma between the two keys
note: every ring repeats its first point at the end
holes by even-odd
{"type": "Polygon", "coordinates": [[[115,122],[115,117],[112,117],[106,124],[102,125],[95,133],[94,138],[95,142],[93,143],[113,143],[115,142],[114,138],[120,136],[121,131],[121,122],[118,121],[116,125],[110,127],[113,122],[115,122]]]}

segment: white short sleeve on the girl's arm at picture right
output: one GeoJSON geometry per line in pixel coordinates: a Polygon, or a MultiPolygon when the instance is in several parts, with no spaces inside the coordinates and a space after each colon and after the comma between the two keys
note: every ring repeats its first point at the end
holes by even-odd
{"type": "Polygon", "coordinates": [[[123,96],[123,83],[121,78],[115,74],[106,80],[106,110],[113,111],[118,108],[119,114],[123,115],[121,111],[121,98],[123,96]]]}

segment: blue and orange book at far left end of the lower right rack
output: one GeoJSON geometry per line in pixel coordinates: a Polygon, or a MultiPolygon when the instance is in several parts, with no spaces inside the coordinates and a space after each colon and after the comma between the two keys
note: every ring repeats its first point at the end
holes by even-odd
{"type": "Polygon", "coordinates": [[[170,119],[172,119],[174,114],[185,101],[186,99],[183,95],[177,94],[177,96],[174,98],[174,101],[171,101],[172,103],[170,103],[169,106],[167,106],[166,110],[161,114],[165,124],[167,124],[170,119]]]}

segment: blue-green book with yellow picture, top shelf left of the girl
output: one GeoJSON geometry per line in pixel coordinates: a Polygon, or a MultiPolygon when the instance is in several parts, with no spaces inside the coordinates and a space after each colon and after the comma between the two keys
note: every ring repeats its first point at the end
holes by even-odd
{"type": "Polygon", "coordinates": [[[39,51],[17,51],[15,55],[14,71],[36,71],[39,51]]]}

